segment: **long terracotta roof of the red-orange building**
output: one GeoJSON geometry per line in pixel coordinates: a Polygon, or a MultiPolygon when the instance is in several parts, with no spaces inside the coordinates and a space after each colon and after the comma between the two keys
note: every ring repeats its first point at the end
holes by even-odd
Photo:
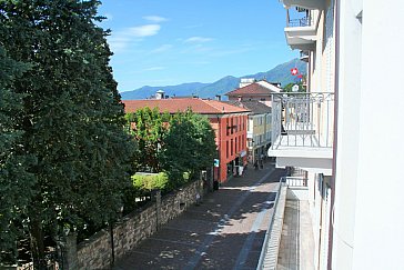
{"type": "Polygon", "coordinates": [[[205,99],[143,99],[143,100],[123,100],[125,112],[134,112],[144,107],[150,109],[159,108],[161,112],[175,113],[185,111],[191,108],[193,112],[201,114],[225,114],[236,112],[249,112],[250,110],[239,108],[218,100],[205,99]]]}

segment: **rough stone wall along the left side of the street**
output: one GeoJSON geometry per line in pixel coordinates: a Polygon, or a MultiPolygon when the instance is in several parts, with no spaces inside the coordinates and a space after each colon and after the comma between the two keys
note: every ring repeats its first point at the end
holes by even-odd
{"type": "MultiPolygon", "coordinates": [[[[201,181],[182,190],[158,198],[142,210],[134,211],[113,227],[114,258],[120,259],[142,240],[158,231],[159,227],[180,216],[202,196],[201,181]]],[[[110,229],[102,230],[78,246],[79,269],[109,269],[112,262],[110,229]]]]}

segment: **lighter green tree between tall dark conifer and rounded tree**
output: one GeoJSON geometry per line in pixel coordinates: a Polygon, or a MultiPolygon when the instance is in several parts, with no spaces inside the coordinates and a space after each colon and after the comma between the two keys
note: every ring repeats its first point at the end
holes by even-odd
{"type": "Polygon", "coordinates": [[[145,107],[125,116],[129,130],[137,143],[133,158],[135,171],[160,172],[161,153],[164,148],[164,137],[168,132],[169,114],[145,107]]]}

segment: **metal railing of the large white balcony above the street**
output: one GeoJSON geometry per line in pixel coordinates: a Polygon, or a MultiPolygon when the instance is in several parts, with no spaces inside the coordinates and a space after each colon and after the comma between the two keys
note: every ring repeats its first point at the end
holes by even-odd
{"type": "Polygon", "coordinates": [[[334,93],[272,94],[272,149],[332,148],[334,93]]]}

